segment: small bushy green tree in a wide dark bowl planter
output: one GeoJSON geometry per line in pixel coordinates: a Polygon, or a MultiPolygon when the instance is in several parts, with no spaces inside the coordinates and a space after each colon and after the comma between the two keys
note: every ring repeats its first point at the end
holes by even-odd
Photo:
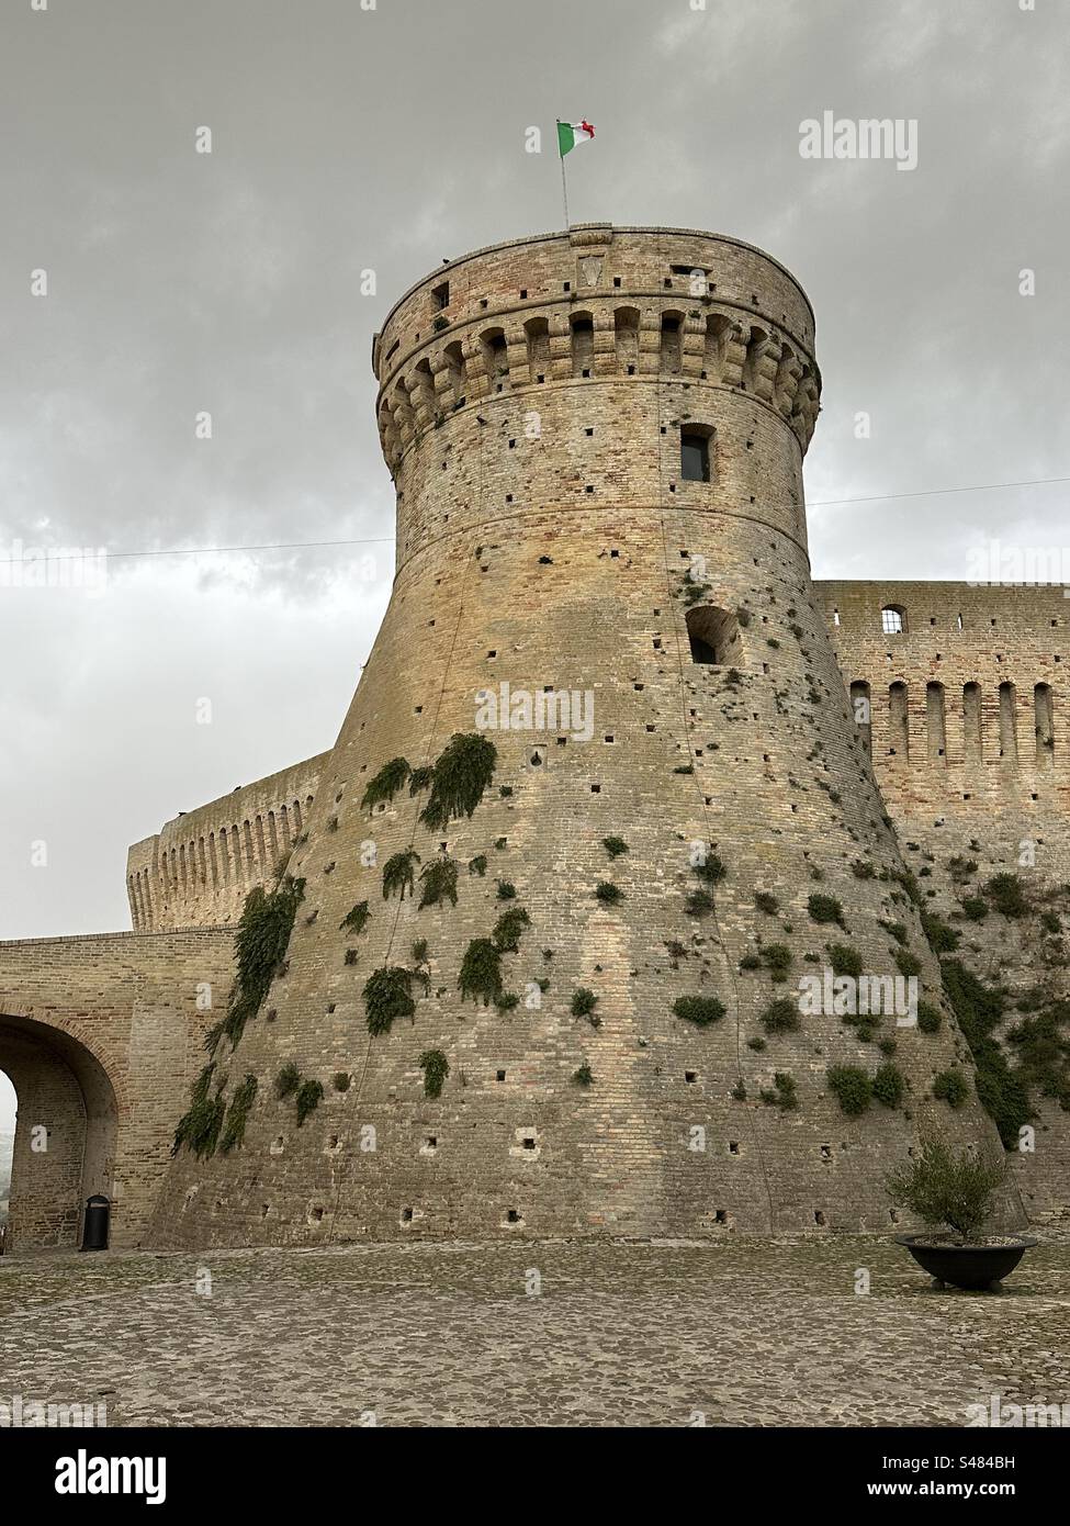
{"type": "Polygon", "coordinates": [[[1001,1279],[1036,1244],[1029,1235],[985,1233],[1006,1177],[1004,1157],[957,1154],[937,1138],[923,1140],[908,1166],[885,1177],[891,1201],[933,1225],[922,1235],[898,1235],[896,1242],[937,1285],[998,1293],[1001,1279]]]}

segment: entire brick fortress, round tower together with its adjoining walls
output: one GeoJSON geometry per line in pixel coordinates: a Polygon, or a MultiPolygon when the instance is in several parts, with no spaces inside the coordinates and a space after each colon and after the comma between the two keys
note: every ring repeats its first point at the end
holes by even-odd
{"type": "Polygon", "coordinates": [[[1062,589],[811,580],[814,313],[733,238],[478,250],[372,366],[333,749],[136,844],[133,932],[0,945],[15,1248],[95,1190],[116,1245],[887,1231],[931,1131],[1062,1216],[1062,589]]]}

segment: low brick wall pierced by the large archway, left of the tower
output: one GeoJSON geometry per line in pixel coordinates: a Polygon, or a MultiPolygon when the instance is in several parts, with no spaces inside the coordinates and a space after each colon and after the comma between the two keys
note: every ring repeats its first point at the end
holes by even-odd
{"type": "Polygon", "coordinates": [[[75,1245],[93,1192],[111,1199],[111,1245],[143,1242],[232,958],[218,928],[0,943],[15,1248],[75,1245]]]}

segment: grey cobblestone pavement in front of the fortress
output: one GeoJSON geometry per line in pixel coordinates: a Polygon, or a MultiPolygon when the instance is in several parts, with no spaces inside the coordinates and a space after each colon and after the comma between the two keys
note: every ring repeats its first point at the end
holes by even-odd
{"type": "Polygon", "coordinates": [[[0,1260],[0,1401],[111,1425],[962,1425],[992,1393],[1070,1404],[1070,1245],[1001,1296],[840,1238],[0,1260]]]}

